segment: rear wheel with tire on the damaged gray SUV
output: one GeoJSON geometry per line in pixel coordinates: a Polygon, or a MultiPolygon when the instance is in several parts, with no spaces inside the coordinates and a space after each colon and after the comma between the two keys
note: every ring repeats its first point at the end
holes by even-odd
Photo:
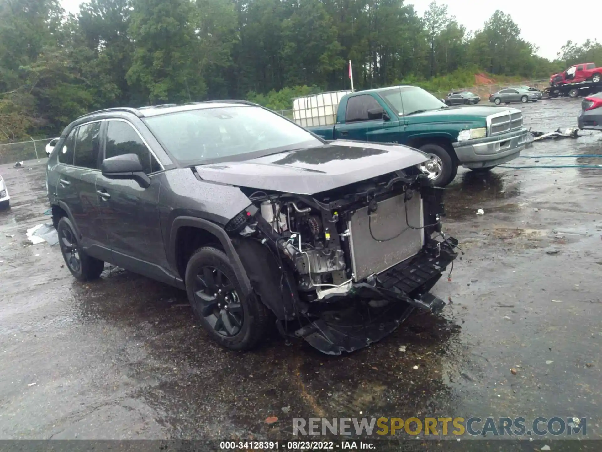
{"type": "Polygon", "coordinates": [[[75,279],[79,281],[98,279],[105,263],[88,256],[81,249],[75,228],[69,218],[64,216],[58,221],[57,233],[63,259],[75,279]]]}

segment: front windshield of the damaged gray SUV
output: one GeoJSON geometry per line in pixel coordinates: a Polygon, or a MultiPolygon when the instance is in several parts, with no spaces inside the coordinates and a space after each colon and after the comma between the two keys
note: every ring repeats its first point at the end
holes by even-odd
{"type": "Polygon", "coordinates": [[[261,107],[178,111],[147,118],[146,123],[183,166],[243,160],[323,144],[305,129],[261,107]]]}

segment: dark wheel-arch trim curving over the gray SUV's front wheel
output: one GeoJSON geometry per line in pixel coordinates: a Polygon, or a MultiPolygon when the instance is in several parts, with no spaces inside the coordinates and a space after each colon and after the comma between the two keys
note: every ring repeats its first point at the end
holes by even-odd
{"type": "Polygon", "coordinates": [[[178,268],[178,266],[176,265],[175,253],[176,239],[178,237],[178,230],[182,226],[191,226],[199,228],[217,237],[217,239],[222,244],[226,255],[228,256],[228,259],[230,259],[230,262],[232,263],[232,268],[234,268],[234,272],[236,274],[236,277],[238,278],[238,282],[243,288],[244,297],[248,297],[249,294],[252,292],[251,283],[249,281],[249,277],[247,276],[247,272],[244,269],[243,263],[241,262],[240,257],[238,257],[238,253],[236,252],[234,245],[232,245],[232,240],[230,240],[230,237],[228,236],[226,231],[223,230],[222,227],[218,226],[215,223],[212,223],[211,221],[202,218],[196,218],[194,216],[178,216],[176,219],[173,220],[172,230],[169,234],[170,246],[169,250],[167,250],[167,260],[170,262],[173,268],[178,268]]]}

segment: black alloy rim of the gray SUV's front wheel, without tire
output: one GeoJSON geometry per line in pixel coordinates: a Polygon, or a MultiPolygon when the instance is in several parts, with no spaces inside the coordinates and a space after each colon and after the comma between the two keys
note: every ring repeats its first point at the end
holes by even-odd
{"type": "Polygon", "coordinates": [[[244,322],[243,306],[234,284],[222,271],[202,266],[194,278],[194,303],[216,333],[225,337],[240,333],[244,322]]]}

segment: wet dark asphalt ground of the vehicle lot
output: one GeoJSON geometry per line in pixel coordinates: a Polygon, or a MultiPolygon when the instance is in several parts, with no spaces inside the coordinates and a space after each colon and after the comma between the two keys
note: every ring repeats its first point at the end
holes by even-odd
{"type": "MultiPolygon", "coordinates": [[[[576,124],[580,99],[519,108],[527,128],[553,131],[576,124]]],[[[602,154],[602,133],[582,134],[523,154],[602,154]]],[[[510,165],[574,163],[602,159],[510,165]]],[[[58,246],[23,246],[50,221],[45,159],[0,174],[12,197],[0,212],[0,439],[282,440],[293,417],[556,415],[587,417],[602,438],[602,170],[461,169],[444,230],[465,256],[433,289],[452,303],[340,357],[279,337],[235,353],[197,326],[184,292],[108,267],[76,282],[58,246]]]]}

